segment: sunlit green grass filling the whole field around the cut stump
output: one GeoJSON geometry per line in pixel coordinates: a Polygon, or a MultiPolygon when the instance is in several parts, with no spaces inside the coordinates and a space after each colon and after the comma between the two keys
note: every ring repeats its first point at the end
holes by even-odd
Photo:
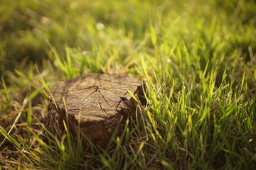
{"type": "Polygon", "coordinates": [[[255,8],[1,1],[0,169],[256,169],[255,8]],[[144,79],[137,117],[103,150],[50,134],[50,89],[98,72],[144,79]]]}

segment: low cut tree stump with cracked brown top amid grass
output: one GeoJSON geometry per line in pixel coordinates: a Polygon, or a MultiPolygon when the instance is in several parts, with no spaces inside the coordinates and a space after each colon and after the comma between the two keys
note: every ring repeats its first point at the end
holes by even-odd
{"type": "MultiPolygon", "coordinates": [[[[95,145],[106,147],[114,128],[134,116],[135,101],[127,91],[142,96],[142,80],[109,74],[88,74],[63,81],[51,91],[46,127],[62,135],[65,120],[72,135],[81,132],[95,145]],[[120,124],[119,124],[120,123],[120,124]]],[[[86,141],[86,140],[85,140],[86,141]]]]}

